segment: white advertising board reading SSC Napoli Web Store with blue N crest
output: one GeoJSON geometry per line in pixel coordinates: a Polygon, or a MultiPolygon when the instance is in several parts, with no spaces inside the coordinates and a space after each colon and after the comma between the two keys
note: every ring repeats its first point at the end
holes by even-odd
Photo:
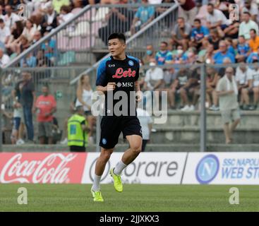
{"type": "Polygon", "coordinates": [[[188,153],[183,184],[259,184],[259,153],[188,153]]]}

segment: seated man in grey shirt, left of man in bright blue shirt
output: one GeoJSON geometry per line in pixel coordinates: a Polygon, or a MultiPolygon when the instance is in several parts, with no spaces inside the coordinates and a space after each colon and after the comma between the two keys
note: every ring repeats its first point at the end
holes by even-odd
{"type": "Polygon", "coordinates": [[[179,17],[172,32],[171,45],[177,46],[181,44],[183,46],[183,51],[186,51],[188,49],[188,39],[190,35],[191,25],[189,23],[186,23],[184,18],[179,17]]]}

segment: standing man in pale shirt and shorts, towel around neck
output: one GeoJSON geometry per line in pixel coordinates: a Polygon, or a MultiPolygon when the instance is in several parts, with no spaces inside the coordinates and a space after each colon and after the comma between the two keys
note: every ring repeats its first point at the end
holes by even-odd
{"type": "Polygon", "coordinates": [[[236,129],[241,118],[239,103],[237,102],[238,88],[234,78],[234,70],[231,67],[227,67],[225,76],[219,79],[217,95],[219,96],[219,109],[224,124],[224,135],[226,143],[229,144],[233,141],[234,129],[236,129]],[[232,120],[234,122],[229,126],[232,120]]]}

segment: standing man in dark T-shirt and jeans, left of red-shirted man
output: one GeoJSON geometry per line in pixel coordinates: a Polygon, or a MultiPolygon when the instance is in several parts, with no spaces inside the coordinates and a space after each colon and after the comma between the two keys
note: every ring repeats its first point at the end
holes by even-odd
{"type": "Polygon", "coordinates": [[[22,73],[23,79],[16,84],[13,95],[20,96],[20,104],[23,106],[25,126],[27,129],[28,143],[33,143],[34,128],[32,122],[32,112],[35,109],[35,88],[32,83],[32,76],[29,72],[22,73]]]}

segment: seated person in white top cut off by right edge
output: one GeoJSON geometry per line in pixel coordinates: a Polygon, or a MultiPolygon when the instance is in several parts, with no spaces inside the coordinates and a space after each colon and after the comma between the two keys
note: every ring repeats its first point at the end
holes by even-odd
{"type": "Polygon", "coordinates": [[[243,101],[246,104],[246,108],[249,110],[255,110],[258,105],[259,100],[259,66],[258,60],[253,61],[253,70],[251,71],[251,76],[248,78],[248,88],[243,89],[243,101]],[[250,105],[249,95],[253,94],[253,105],[250,105]]]}

